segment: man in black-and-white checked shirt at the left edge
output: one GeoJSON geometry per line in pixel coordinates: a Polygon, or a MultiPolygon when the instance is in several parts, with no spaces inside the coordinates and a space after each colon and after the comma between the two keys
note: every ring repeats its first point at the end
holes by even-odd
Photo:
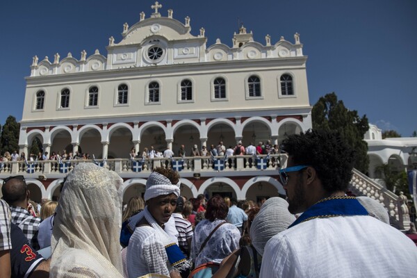
{"type": "Polygon", "coordinates": [[[26,210],[30,193],[24,177],[12,176],[4,179],[1,193],[3,194],[3,199],[10,206],[12,223],[22,229],[28,241],[32,243],[35,250],[38,250],[37,232],[42,220],[34,217],[26,210]]]}

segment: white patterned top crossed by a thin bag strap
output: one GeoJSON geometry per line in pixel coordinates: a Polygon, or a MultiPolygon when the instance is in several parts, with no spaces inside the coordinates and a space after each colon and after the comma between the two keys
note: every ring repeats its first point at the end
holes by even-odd
{"type": "Polygon", "coordinates": [[[221,263],[224,258],[229,256],[239,247],[240,231],[234,224],[222,224],[211,236],[206,243],[202,252],[199,250],[206,240],[207,236],[224,220],[202,220],[195,227],[193,240],[191,241],[191,259],[195,261],[194,265],[201,265],[213,261],[221,263]]]}

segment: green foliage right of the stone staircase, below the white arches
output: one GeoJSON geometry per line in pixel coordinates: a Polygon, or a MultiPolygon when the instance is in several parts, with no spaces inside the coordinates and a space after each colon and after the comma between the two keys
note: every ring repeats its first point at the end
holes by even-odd
{"type": "Polygon", "coordinates": [[[382,173],[382,179],[385,182],[386,189],[400,193],[402,191],[407,197],[409,195],[407,173],[405,171],[398,171],[391,165],[384,163],[375,168],[375,170],[382,173]]]}

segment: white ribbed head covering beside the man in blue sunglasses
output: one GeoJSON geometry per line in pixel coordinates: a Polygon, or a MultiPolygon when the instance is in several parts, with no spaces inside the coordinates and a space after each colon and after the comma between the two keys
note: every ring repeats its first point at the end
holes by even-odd
{"type": "Polygon", "coordinates": [[[295,221],[288,211],[288,202],[272,197],[263,203],[250,227],[250,239],[256,251],[263,256],[263,249],[272,236],[284,231],[295,221]]]}

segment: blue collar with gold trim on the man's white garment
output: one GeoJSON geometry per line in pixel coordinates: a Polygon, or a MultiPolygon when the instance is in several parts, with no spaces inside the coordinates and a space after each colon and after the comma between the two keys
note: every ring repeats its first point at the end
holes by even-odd
{"type": "Polygon", "coordinates": [[[310,206],[288,229],[294,227],[296,224],[315,218],[332,218],[347,215],[368,215],[368,211],[366,211],[354,196],[327,197],[320,199],[316,204],[310,206]]]}

